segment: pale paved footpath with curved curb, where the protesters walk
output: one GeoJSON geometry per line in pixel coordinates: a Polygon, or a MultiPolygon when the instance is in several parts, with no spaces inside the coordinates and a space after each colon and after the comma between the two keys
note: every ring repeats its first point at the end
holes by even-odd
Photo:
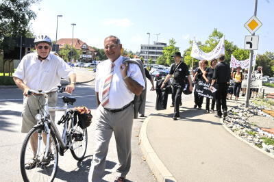
{"type": "Polygon", "coordinates": [[[273,158],[235,138],[214,114],[192,107],[183,101],[179,120],[169,107],[142,126],[142,152],[158,181],[274,181],[273,158]]]}

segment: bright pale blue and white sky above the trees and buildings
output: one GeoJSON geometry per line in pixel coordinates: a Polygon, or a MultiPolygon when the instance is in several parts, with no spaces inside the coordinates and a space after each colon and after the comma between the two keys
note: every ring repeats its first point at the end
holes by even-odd
{"type": "MultiPolygon", "coordinates": [[[[32,21],[35,35],[46,34],[55,40],[57,15],[58,39],[79,38],[92,47],[103,48],[105,37],[114,35],[123,47],[140,51],[140,44],[156,41],[177,42],[180,51],[188,49],[195,37],[204,42],[217,28],[225,39],[244,47],[244,27],[254,13],[255,0],[42,0],[32,6],[37,17],[32,21]]],[[[256,31],[258,53],[274,51],[274,0],[258,0],[257,17],[262,27],[256,31]]]]}

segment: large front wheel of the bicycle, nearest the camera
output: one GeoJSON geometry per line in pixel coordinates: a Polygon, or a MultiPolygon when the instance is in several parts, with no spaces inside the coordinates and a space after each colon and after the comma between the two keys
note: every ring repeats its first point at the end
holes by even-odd
{"type": "MultiPolygon", "coordinates": [[[[23,142],[20,156],[20,168],[24,181],[53,181],[58,168],[58,143],[53,132],[49,135],[50,144],[47,156],[46,141],[47,133],[44,126],[32,128],[23,142]],[[34,140],[37,140],[37,142],[34,140]],[[33,148],[36,148],[34,155],[33,148]]],[[[35,149],[34,149],[35,150],[35,149]]]]}

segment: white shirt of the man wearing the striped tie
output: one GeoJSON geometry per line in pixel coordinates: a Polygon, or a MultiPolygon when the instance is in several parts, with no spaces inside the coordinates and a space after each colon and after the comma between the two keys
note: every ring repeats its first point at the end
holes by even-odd
{"type": "MultiPolygon", "coordinates": [[[[121,109],[134,100],[135,94],[132,93],[126,86],[125,81],[121,75],[120,66],[123,62],[123,57],[120,56],[114,62],[114,73],[112,82],[110,84],[110,95],[109,103],[105,105],[108,109],[121,109]]],[[[95,80],[95,92],[99,92],[99,101],[102,101],[103,84],[106,77],[110,73],[111,61],[105,60],[101,62],[96,69],[96,80],[95,80]]],[[[129,64],[127,69],[127,76],[137,81],[140,86],[145,89],[145,81],[142,77],[141,70],[137,64],[129,64]]]]}

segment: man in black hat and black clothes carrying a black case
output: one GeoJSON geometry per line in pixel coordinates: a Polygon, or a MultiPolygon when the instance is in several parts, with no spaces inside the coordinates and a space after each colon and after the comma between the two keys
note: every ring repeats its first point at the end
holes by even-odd
{"type": "MultiPolygon", "coordinates": [[[[175,107],[174,107],[174,114],[173,120],[177,120],[179,118],[179,102],[181,99],[181,95],[185,86],[184,79],[188,76],[188,81],[191,83],[191,77],[188,71],[188,66],[184,62],[182,62],[182,56],[180,52],[177,52],[173,55],[175,59],[175,63],[171,65],[171,70],[169,71],[169,75],[166,76],[164,82],[162,83],[162,87],[173,75],[173,92],[175,93],[175,107]]],[[[192,92],[192,85],[190,84],[189,90],[192,92]]]]}

